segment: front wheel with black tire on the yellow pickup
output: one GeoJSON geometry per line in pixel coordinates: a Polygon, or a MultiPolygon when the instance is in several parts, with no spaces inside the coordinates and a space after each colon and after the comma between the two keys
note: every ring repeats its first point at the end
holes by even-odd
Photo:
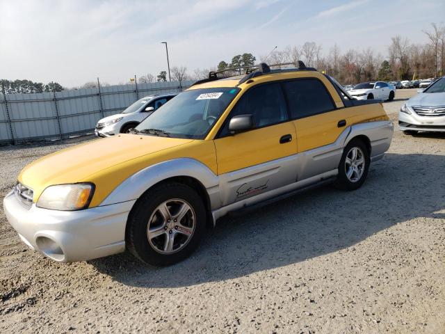
{"type": "Polygon", "coordinates": [[[176,182],[155,186],[140,197],[131,212],[125,237],[127,249],[152,266],[180,262],[198,246],[206,217],[202,198],[190,186],[176,182]],[[184,215],[176,221],[175,216],[181,215],[184,207],[184,215]]]}

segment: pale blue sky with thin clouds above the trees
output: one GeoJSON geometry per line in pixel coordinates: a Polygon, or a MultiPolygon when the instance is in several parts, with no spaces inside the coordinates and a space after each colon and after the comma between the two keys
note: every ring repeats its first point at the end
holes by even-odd
{"type": "Polygon", "coordinates": [[[316,42],[323,54],[387,56],[391,37],[425,43],[444,0],[0,0],[0,79],[108,84],[186,66],[193,74],[251,52],[316,42]]]}

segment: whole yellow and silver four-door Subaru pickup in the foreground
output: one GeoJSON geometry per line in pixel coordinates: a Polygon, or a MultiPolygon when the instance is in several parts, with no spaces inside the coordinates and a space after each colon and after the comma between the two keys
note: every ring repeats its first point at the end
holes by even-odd
{"type": "Polygon", "coordinates": [[[229,212],[332,182],[358,189],[392,134],[379,101],[353,100],[302,62],[211,72],[131,134],[26,166],[3,208],[26,245],[58,262],[127,248],[173,264],[229,212]]]}

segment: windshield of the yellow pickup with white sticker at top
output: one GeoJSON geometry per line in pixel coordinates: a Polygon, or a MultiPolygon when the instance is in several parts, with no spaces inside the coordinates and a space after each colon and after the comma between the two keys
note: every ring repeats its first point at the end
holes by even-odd
{"type": "Polygon", "coordinates": [[[202,139],[238,94],[239,88],[186,90],[145,118],[136,132],[202,139]]]}

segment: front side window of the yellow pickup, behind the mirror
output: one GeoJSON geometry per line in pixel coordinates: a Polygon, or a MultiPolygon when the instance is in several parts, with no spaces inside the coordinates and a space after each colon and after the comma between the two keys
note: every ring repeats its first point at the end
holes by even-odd
{"type": "MultiPolygon", "coordinates": [[[[251,114],[255,127],[284,122],[289,119],[280,84],[266,84],[248,90],[232,109],[229,118],[251,114]]],[[[226,122],[222,136],[229,134],[229,122],[226,122]]]]}

